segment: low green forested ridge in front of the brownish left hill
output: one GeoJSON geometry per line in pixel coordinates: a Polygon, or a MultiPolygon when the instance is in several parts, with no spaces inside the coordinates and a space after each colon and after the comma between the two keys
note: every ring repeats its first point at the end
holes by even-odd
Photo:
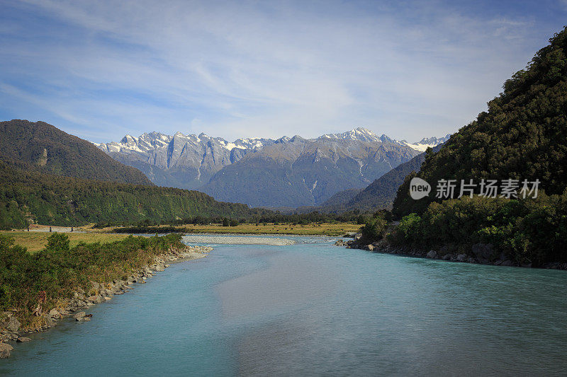
{"type": "Polygon", "coordinates": [[[269,211],[216,202],[202,192],[47,175],[0,161],[0,228],[38,224],[169,221],[191,216],[251,217],[269,211]]]}

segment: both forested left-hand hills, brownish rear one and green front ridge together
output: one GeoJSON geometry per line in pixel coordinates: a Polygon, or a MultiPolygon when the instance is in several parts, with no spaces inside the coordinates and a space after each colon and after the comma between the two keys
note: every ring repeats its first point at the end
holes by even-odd
{"type": "Polygon", "coordinates": [[[0,229],[28,224],[259,218],[273,212],[157,187],[139,170],[45,122],[0,122],[0,229]]]}

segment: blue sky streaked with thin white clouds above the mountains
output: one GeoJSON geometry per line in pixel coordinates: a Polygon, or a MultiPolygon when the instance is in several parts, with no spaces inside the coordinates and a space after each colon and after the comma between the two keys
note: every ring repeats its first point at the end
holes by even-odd
{"type": "Polygon", "coordinates": [[[91,141],[159,131],[455,132],[567,1],[0,0],[0,120],[91,141]]]}

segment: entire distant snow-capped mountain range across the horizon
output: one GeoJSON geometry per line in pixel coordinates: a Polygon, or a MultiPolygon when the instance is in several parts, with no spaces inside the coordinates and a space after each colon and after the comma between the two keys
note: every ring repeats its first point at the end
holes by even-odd
{"type": "Polygon", "coordinates": [[[252,207],[318,205],[335,193],[363,188],[447,137],[410,144],[368,129],[315,139],[237,139],[159,132],[96,144],[160,186],[201,190],[252,207]]]}

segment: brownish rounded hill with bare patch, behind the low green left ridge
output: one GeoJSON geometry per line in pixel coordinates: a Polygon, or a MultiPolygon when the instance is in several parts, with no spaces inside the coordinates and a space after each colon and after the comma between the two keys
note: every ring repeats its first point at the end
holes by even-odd
{"type": "Polygon", "coordinates": [[[45,122],[0,122],[0,135],[0,159],[28,163],[28,168],[42,173],[152,185],[139,170],[45,122]]]}

